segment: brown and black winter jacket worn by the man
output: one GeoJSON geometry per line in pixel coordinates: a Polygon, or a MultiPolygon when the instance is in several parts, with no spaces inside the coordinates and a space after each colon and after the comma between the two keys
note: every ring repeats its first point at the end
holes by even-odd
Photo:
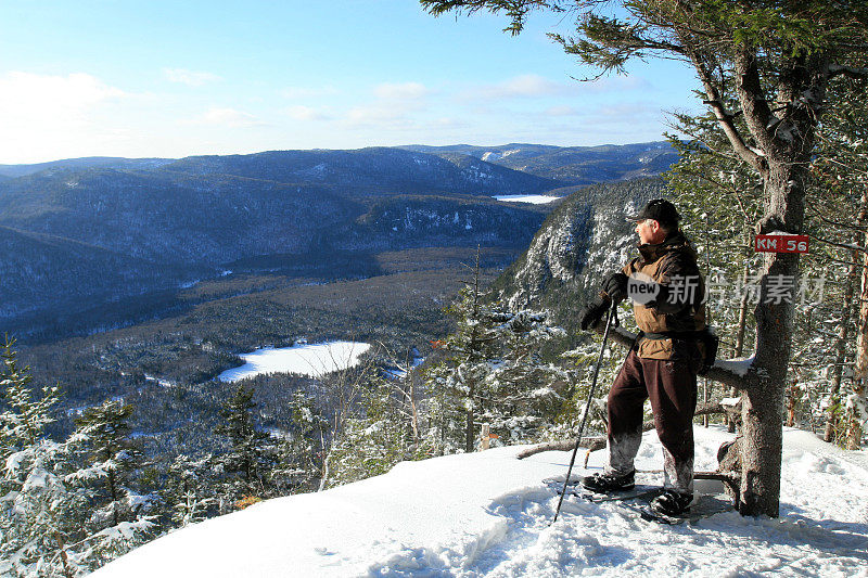
{"type": "Polygon", "coordinates": [[[641,257],[627,264],[624,273],[634,279],[643,273],[660,284],[652,300],[646,304],[634,300],[636,324],[643,333],[659,337],[641,338],[639,357],[700,359],[703,345],[691,335],[705,329],[705,283],[697,265],[697,252],[677,231],[658,245],[639,245],[639,253],[641,257]]]}

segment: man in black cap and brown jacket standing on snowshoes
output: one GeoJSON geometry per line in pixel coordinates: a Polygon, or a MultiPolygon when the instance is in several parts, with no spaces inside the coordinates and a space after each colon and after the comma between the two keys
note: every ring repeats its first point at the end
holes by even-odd
{"type": "Polygon", "coordinates": [[[697,253],[679,230],[680,216],[672,203],[655,198],[627,219],[636,222],[640,257],[604,280],[579,322],[583,330],[596,326],[610,307],[629,296],[641,332],[609,391],[607,467],[583,485],[596,492],[634,487],[642,406],[650,399],[664,458],[664,492],[651,508],[677,515],[693,498],[693,413],[706,330],[705,287],[697,253]]]}

